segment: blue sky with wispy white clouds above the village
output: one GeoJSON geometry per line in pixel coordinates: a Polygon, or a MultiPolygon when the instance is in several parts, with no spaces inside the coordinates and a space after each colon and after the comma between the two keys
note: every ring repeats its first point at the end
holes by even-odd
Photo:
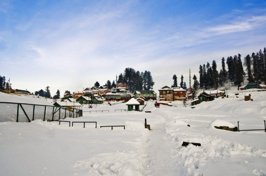
{"type": "Polygon", "coordinates": [[[154,90],[266,47],[266,1],[0,0],[0,75],[30,92],[81,91],[125,68],[154,90]]]}

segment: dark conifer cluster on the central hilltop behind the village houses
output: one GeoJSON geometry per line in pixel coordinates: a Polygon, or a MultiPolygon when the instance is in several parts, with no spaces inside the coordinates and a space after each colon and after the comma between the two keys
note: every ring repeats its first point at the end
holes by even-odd
{"type": "MultiPolygon", "coordinates": [[[[116,88],[118,83],[126,83],[131,92],[134,90],[152,90],[155,84],[150,71],[139,72],[133,68],[126,68],[124,73],[120,73],[118,77],[116,76],[113,82],[107,80],[104,86],[112,89],[116,88]]],[[[94,86],[103,88],[98,81],[95,82],[94,86]]]]}

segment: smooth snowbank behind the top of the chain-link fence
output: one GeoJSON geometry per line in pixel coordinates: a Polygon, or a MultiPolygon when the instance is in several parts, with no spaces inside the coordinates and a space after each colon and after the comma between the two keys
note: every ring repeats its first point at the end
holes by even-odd
{"type": "Polygon", "coordinates": [[[33,97],[26,97],[26,96],[18,96],[18,95],[10,95],[6,93],[0,92],[0,102],[12,102],[12,103],[27,103],[27,104],[39,104],[39,105],[49,105],[53,106],[52,99],[49,101],[33,98],[33,97]]]}

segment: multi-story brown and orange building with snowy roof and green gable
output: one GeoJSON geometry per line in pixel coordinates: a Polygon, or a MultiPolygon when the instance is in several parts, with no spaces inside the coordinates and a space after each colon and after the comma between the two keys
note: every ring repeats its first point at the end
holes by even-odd
{"type": "Polygon", "coordinates": [[[180,100],[184,101],[186,99],[186,90],[180,87],[170,88],[168,86],[161,87],[159,89],[160,99],[161,101],[174,101],[180,100]]]}

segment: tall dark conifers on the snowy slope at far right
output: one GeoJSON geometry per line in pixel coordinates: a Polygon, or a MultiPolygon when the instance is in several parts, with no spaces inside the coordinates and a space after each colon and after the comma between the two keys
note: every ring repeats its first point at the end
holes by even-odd
{"type": "MultiPolygon", "coordinates": [[[[251,56],[244,57],[244,63],[242,64],[241,55],[235,55],[234,57],[228,56],[225,62],[225,58],[222,58],[222,69],[220,72],[217,70],[216,61],[213,60],[210,65],[200,65],[199,85],[195,85],[195,88],[201,89],[218,89],[218,86],[224,86],[225,82],[230,79],[235,86],[241,86],[244,81],[244,76],[248,76],[248,82],[265,83],[266,84],[266,48],[262,51],[252,53],[251,56]],[[227,64],[227,70],[226,70],[227,64]],[[243,69],[243,65],[246,67],[247,73],[243,69]]],[[[196,76],[194,76],[196,78],[196,76]]],[[[193,79],[194,79],[193,77],[193,79]]],[[[197,79],[197,78],[196,78],[197,79]]],[[[194,86],[193,86],[194,87],[194,86]]]]}

